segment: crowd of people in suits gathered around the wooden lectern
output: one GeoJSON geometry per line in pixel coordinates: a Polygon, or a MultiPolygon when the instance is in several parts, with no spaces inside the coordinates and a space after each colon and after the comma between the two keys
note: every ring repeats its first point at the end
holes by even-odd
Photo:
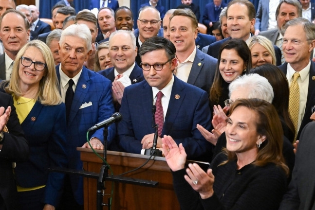
{"type": "Polygon", "coordinates": [[[81,170],[76,147],[104,149],[87,130],[120,112],[108,149],[145,154],[157,131],[181,209],[312,210],[314,8],[267,2],[201,16],[149,0],[134,21],[117,0],[61,0],[51,30],[37,6],[0,0],[0,209],[83,210],[83,178],[47,168],[81,170]]]}

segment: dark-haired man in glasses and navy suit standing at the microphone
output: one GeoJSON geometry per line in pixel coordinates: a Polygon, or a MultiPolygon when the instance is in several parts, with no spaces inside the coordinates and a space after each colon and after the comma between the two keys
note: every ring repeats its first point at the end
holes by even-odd
{"type": "Polygon", "coordinates": [[[177,144],[183,143],[188,159],[207,161],[212,146],[196,125],[211,127],[208,96],[204,90],[173,75],[177,65],[175,52],[173,43],[164,37],[155,36],[142,44],[140,56],[146,81],[125,88],[120,108],[123,120],[117,129],[118,145],[123,151],[136,154],[152,147],[155,132],[152,124],[160,119],[163,123],[159,123],[157,148],[162,147],[164,135],[171,135],[177,144]],[[157,97],[161,92],[159,105],[157,97]],[[152,122],[153,105],[156,105],[155,122],[152,122]]]}

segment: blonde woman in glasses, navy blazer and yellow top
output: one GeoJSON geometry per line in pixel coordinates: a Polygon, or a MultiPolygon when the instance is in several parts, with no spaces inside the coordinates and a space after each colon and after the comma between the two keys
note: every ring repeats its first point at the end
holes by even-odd
{"type": "Polygon", "coordinates": [[[54,58],[45,43],[34,40],[19,51],[5,91],[13,95],[30,147],[29,159],[15,168],[19,210],[54,209],[64,175],[47,168],[67,166],[66,113],[54,58]]]}

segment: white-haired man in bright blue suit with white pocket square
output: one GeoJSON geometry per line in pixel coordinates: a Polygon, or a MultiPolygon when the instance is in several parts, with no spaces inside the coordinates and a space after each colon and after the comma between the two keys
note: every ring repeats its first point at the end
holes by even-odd
{"type": "MultiPolygon", "coordinates": [[[[68,112],[66,150],[69,168],[77,170],[82,170],[82,161],[76,147],[83,145],[89,148],[86,139],[87,130],[94,124],[110,118],[114,112],[111,81],[83,66],[91,49],[92,35],[85,24],[71,25],[62,32],[59,41],[61,63],[56,67],[56,72],[63,101],[69,83],[74,82],[72,86],[74,96],[68,112]]],[[[70,90],[71,88],[68,91],[70,90]]],[[[108,132],[109,144],[114,136],[115,125],[112,124],[108,132]]],[[[90,133],[88,138],[94,149],[103,149],[103,129],[90,133]]],[[[82,176],[66,176],[65,190],[60,205],[64,209],[83,209],[82,176]]]]}

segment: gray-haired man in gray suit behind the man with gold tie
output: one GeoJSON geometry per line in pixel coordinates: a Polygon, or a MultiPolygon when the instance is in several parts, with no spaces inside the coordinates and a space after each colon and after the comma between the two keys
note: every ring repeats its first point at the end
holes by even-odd
{"type": "Polygon", "coordinates": [[[282,52],[282,37],[280,33],[282,26],[291,19],[302,17],[302,6],[298,0],[282,0],[276,10],[277,28],[260,32],[259,35],[267,37],[277,45],[282,52]]]}

